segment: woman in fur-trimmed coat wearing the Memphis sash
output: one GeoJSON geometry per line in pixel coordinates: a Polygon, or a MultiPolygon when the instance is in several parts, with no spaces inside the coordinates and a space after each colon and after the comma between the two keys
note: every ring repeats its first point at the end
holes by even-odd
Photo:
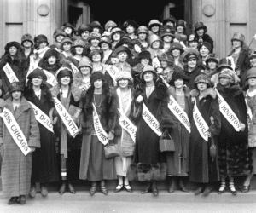
{"type": "Polygon", "coordinates": [[[105,158],[104,145],[94,128],[93,113],[97,112],[102,130],[108,135],[108,140],[112,141],[118,116],[118,98],[109,89],[102,72],[91,74],[90,85],[86,93],[83,92],[80,101],[80,107],[83,109],[83,142],[79,177],[91,181],[91,196],[96,193],[96,181],[101,181],[101,191],[107,195],[105,180],[117,179],[117,175],[114,159],[105,158]]]}

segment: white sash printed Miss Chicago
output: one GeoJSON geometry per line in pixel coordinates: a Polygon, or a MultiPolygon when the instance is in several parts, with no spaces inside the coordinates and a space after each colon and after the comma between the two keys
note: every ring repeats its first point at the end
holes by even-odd
{"type": "Polygon", "coordinates": [[[20,130],[20,126],[15,120],[14,115],[9,111],[9,109],[4,107],[0,116],[3,118],[3,122],[9,130],[9,134],[12,135],[15,143],[26,156],[29,153],[30,148],[27,145],[26,137],[22,130],[20,130]]]}

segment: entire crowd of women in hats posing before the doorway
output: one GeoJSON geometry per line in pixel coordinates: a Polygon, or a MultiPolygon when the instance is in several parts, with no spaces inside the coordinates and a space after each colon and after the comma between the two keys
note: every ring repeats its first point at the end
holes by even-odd
{"type": "Polygon", "coordinates": [[[159,194],[168,180],[195,195],[228,188],[256,168],[256,49],[235,32],[232,51],[214,53],[207,26],[170,16],[160,23],[122,26],[109,20],[65,23],[55,43],[28,33],[9,42],[0,61],[0,151],[3,194],[26,204],[26,194],[76,193],[73,181],[97,183],[105,195],[131,193],[131,181],[147,181],[142,193],[159,194]]]}

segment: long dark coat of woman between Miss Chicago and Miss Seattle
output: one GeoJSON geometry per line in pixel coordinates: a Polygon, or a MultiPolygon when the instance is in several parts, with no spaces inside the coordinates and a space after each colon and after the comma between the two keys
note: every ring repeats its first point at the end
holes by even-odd
{"type": "MultiPolygon", "coordinates": [[[[41,89],[40,100],[33,92],[33,89],[27,89],[25,96],[27,101],[31,101],[50,118],[50,113],[52,114],[55,105],[50,91],[46,87],[44,85],[41,89]]],[[[38,126],[40,130],[41,148],[36,149],[32,153],[32,182],[45,183],[59,181],[60,170],[55,151],[55,135],[39,122],[38,126]]]]}

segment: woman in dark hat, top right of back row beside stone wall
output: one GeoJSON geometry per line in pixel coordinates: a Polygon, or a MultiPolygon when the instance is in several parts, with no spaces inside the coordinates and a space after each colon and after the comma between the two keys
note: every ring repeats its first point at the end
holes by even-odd
{"type": "Polygon", "coordinates": [[[211,45],[211,49],[210,49],[210,53],[212,53],[213,51],[213,40],[212,37],[210,37],[207,34],[207,26],[205,26],[202,22],[197,22],[194,25],[194,29],[195,29],[195,37],[198,39],[199,43],[202,42],[207,42],[210,43],[211,45]]]}

